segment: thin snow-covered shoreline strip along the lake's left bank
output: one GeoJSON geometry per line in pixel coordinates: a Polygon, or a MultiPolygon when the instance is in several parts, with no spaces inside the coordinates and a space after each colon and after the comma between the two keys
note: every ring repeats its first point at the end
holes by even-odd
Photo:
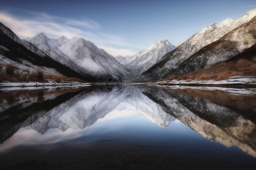
{"type": "Polygon", "coordinates": [[[68,83],[57,83],[57,82],[23,82],[23,83],[15,83],[15,82],[8,82],[8,83],[0,83],[0,90],[19,90],[19,89],[37,89],[47,86],[54,86],[54,87],[63,87],[63,86],[90,86],[90,83],[82,83],[82,82],[68,82],[68,83]]]}

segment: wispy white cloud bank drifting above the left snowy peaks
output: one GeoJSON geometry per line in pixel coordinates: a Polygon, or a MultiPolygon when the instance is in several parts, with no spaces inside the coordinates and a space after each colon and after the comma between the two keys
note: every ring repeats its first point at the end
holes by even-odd
{"type": "Polygon", "coordinates": [[[0,22],[10,28],[21,39],[33,37],[43,32],[49,38],[57,39],[66,36],[71,39],[81,36],[95,45],[103,48],[107,53],[117,55],[134,55],[136,52],[125,49],[130,45],[121,35],[102,32],[100,24],[93,20],[75,20],[47,15],[42,12],[29,12],[32,17],[21,18],[9,12],[0,11],[0,22]],[[117,48],[119,47],[119,49],[117,48]]]}

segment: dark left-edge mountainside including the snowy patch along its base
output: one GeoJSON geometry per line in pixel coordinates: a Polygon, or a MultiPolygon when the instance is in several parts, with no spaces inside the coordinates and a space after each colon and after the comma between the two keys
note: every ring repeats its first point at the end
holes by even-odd
{"type": "Polygon", "coordinates": [[[19,69],[43,70],[48,74],[64,74],[68,77],[85,79],[81,74],[53,60],[30,42],[18,38],[13,31],[2,23],[0,23],[0,58],[2,62],[13,63],[19,69]]]}

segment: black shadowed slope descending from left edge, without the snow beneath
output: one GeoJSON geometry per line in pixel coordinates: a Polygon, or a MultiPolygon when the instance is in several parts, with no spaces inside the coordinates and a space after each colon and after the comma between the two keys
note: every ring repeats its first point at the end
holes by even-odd
{"type": "Polygon", "coordinates": [[[26,40],[19,39],[9,28],[0,23],[0,54],[13,61],[22,60],[36,66],[54,68],[68,77],[77,77],[86,80],[81,74],[54,61],[49,55],[26,40]]]}

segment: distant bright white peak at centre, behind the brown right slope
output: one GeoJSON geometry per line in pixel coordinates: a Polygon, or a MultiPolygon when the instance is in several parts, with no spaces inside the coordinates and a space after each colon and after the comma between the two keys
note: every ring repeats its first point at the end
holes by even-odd
{"type": "Polygon", "coordinates": [[[143,49],[133,55],[124,63],[124,65],[141,74],[160,61],[165,54],[171,52],[175,48],[176,46],[169,43],[167,39],[162,39],[154,43],[149,48],[143,49]]]}

